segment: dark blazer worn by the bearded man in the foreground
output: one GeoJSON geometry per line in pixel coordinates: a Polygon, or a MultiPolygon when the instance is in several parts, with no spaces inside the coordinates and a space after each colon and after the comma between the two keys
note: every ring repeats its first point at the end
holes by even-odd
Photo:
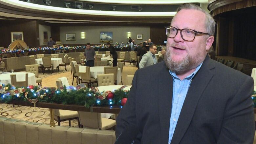
{"type": "MultiPolygon", "coordinates": [[[[252,144],[252,77],[206,56],[191,81],[171,144],[252,144]]],[[[136,71],[116,137],[135,124],[136,144],[167,144],[173,78],[164,61],[136,71]]]]}

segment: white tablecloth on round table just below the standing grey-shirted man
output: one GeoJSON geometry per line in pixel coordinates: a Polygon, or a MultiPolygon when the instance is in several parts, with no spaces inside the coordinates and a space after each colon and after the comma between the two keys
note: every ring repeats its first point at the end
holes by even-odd
{"type": "MultiPolygon", "coordinates": [[[[97,78],[97,74],[104,74],[104,67],[90,67],[91,77],[97,78]]],[[[121,82],[122,72],[121,69],[117,69],[117,84],[121,82]]]]}

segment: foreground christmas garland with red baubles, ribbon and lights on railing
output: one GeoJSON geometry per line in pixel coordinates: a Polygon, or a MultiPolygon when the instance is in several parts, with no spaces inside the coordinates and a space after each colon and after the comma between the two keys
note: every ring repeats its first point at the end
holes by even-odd
{"type": "Polygon", "coordinates": [[[16,88],[13,85],[0,84],[0,102],[8,103],[12,100],[29,101],[36,104],[39,102],[74,104],[90,107],[93,105],[124,105],[129,91],[123,90],[123,86],[115,91],[99,92],[96,87],[87,88],[84,84],[76,87],[69,86],[56,89],[30,85],[27,88],[16,88]]]}

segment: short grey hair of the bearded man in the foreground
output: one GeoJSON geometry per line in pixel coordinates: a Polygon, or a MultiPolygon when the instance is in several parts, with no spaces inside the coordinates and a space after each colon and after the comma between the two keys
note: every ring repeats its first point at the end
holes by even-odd
{"type": "Polygon", "coordinates": [[[205,20],[205,28],[206,31],[211,35],[214,36],[214,32],[215,32],[215,21],[213,19],[213,17],[206,12],[203,8],[201,8],[198,5],[195,4],[191,4],[191,3],[184,3],[182,5],[180,5],[180,7],[177,9],[177,12],[179,12],[182,9],[186,9],[186,10],[199,10],[202,11],[205,14],[206,20],[205,20]]]}

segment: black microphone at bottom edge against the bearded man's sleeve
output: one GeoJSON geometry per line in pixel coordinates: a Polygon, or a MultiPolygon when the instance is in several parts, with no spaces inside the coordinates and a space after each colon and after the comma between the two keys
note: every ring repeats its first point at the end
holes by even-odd
{"type": "Polygon", "coordinates": [[[136,144],[136,136],[139,133],[139,129],[134,124],[128,125],[116,139],[115,144],[136,144]]]}

